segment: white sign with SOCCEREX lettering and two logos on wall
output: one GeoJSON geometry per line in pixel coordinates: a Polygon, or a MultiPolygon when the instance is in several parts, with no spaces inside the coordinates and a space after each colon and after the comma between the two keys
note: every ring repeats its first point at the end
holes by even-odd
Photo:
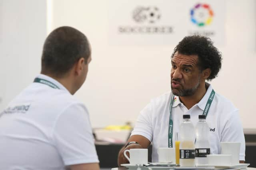
{"type": "Polygon", "coordinates": [[[198,34],[225,43],[223,1],[110,0],[108,21],[112,45],[176,45],[198,34]]]}

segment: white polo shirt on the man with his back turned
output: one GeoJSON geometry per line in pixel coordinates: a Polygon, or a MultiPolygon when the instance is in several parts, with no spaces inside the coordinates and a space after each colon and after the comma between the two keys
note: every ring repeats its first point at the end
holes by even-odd
{"type": "Polygon", "coordinates": [[[64,170],[99,162],[88,110],[58,81],[24,89],[0,115],[0,169],[64,170]]]}

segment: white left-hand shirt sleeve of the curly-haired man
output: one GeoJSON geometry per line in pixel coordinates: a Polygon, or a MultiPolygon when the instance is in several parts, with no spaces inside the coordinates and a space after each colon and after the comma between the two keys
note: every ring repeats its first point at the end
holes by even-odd
{"type": "Polygon", "coordinates": [[[136,125],[131,133],[132,135],[142,135],[146,137],[149,141],[152,141],[153,131],[152,131],[152,105],[148,104],[138,116],[136,125]]]}

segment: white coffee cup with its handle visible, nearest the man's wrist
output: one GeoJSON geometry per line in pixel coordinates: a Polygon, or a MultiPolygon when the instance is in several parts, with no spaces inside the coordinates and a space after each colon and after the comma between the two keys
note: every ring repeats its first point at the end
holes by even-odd
{"type": "Polygon", "coordinates": [[[130,164],[136,165],[136,164],[147,164],[148,163],[148,149],[126,149],[124,150],[124,156],[130,164]],[[127,152],[130,154],[130,158],[127,156],[127,152]]]}

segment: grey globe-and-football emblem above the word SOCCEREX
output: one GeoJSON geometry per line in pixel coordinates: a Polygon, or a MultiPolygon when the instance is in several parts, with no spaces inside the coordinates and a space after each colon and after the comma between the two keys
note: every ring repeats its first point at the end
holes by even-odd
{"type": "Polygon", "coordinates": [[[132,12],[132,18],[134,21],[138,23],[155,23],[156,21],[160,20],[161,14],[159,9],[156,6],[151,7],[142,7],[138,6],[132,12]]]}

